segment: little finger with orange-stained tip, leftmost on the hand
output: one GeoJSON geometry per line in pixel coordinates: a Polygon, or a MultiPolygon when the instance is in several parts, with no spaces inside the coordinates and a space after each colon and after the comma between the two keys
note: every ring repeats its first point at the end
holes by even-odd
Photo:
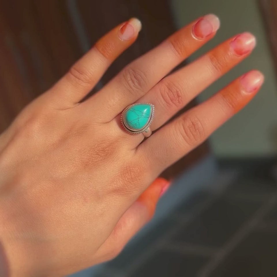
{"type": "Polygon", "coordinates": [[[140,30],[141,22],[131,18],[100,38],[50,89],[56,98],[54,101],[67,106],[80,102],[111,63],[136,40],[140,30]]]}

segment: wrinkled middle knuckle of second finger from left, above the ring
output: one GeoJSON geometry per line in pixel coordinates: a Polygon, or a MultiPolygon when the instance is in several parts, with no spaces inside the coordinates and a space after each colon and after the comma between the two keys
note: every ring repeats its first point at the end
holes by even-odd
{"type": "Polygon", "coordinates": [[[127,67],[123,70],[123,82],[129,92],[136,93],[147,86],[147,78],[141,70],[127,67]]]}

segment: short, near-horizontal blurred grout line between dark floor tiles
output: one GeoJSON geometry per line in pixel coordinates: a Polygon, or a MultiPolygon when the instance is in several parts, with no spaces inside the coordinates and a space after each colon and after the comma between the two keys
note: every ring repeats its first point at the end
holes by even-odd
{"type": "Polygon", "coordinates": [[[218,248],[190,244],[186,242],[166,242],[160,246],[160,249],[172,250],[177,253],[188,254],[188,255],[198,255],[198,256],[212,256],[218,252],[218,248]]]}

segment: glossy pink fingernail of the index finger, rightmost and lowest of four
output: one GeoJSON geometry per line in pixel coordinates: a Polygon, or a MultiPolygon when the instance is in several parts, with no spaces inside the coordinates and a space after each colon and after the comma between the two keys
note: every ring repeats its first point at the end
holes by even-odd
{"type": "Polygon", "coordinates": [[[263,84],[264,76],[257,70],[252,70],[242,76],[240,83],[247,93],[257,91],[263,84]]]}

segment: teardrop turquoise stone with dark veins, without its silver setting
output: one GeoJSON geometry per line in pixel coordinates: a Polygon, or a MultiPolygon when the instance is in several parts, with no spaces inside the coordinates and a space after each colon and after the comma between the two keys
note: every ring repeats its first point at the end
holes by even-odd
{"type": "Polygon", "coordinates": [[[124,123],[133,130],[143,129],[151,117],[151,105],[136,104],[128,108],[124,114],[124,123]]]}

